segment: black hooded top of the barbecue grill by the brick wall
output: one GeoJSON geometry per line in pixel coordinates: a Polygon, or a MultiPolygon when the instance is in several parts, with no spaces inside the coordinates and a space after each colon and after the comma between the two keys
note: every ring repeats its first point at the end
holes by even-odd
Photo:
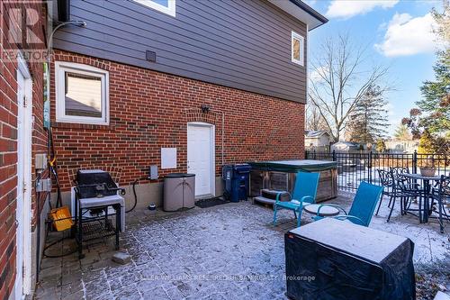
{"type": "Polygon", "coordinates": [[[101,169],[78,170],[76,187],[80,198],[103,197],[116,195],[117,185],[111,175],[101,169]]]}

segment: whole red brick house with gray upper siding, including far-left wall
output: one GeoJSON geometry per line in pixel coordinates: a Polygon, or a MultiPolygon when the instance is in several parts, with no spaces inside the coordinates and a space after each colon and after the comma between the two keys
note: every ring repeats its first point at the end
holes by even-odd
{"type": "MultiPolygon", "coordinates": [[[[25,50],[7,40],[23,29],[11,3],[35,10],[37,36],[49,35],[41,1],[2,1],[0,299],[31,295],[48,212],[34,190],[47,176],[34,168],[48,140],[42,61],[4,56],[25,50]]],[[[66,204],[78,168],[121,168],[120,185],[139,179],[145,206],[162,198],[160,179],[142,179],[149,166],[159,178],[195,173],[202,197],[221,195],[223,164],[302,159],[308,32],[327,22],[302,1],[60,0],[53,9],[54,22],[86,23],[61,26],[49,66],[66,204]]]]}

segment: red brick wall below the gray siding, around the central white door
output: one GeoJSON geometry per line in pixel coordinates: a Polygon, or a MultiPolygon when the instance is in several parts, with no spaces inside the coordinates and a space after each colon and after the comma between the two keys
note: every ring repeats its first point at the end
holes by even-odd
{"type": "MultiPolygon", "coordinates": [[[[69,187],[66,170],[88,166],[120,167],[121,185],[129,185],[145,177],[149,165],[160,167],[161,147],[177,148],[179,168],[168,171],[185,172],[187,123],[196,121],[216,125],[216,175],[220,175],[221,113],[225,116],[225,163],[303,158],[302,104],[66,51],[56,51],[54,58],[106,69],[110,77],[108,126],[55,123],[51,86],[51,117],[64,190],[69,187]],[[203,104],[211,106],[210,113],[201,113],[203,104]]],[[[166,173],[159,169],[160,176],[166,173]]]]}

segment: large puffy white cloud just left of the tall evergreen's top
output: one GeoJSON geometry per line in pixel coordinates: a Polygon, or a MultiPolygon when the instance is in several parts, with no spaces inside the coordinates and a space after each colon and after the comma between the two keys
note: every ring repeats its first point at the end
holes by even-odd
{"type": "Polygon", "coordinates": [[[431,14],[416,18],[410,14],[395,14],[383,42],[375,44],[375,49],[387,57],[433,52],[436,50],[433,26],[435,21],[431,14]]]}

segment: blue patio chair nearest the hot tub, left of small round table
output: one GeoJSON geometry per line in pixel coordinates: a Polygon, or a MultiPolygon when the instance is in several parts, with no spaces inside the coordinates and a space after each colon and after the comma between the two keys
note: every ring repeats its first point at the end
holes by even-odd
{"type": "Polygon", "coordinates": [[[293,211],[297,218],[297,227],[300,227],[302,219],[303,204],[311,205],[316,203],[317,186],[319,186],[320,173],[298,172],[293,186],[291,201],[280,201],[279,197],[285,192],[276,195],[274,204],[274,225],[276,225],[276,211],[278,208],[285,208],[293,211]],[[298,213],[298,215],[297,215],[298,213]]]}

